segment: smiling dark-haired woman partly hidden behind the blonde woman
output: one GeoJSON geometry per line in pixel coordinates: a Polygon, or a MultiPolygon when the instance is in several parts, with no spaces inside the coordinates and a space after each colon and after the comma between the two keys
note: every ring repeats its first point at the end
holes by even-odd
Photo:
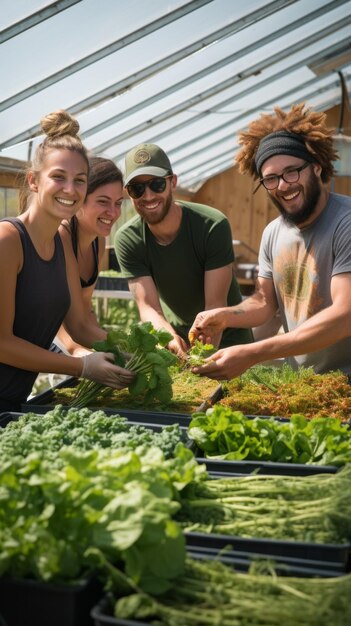
{"type": "MultiPolygon", "coordinates": [[[[121,171],[110,159],[90,157],[85,201],[77,213],[70,220],[64,220],[59,228],[66,256],[70,258],[72,267],[77,266],[75,273],[78,273],[80,281],[84,316],[97,328],[100,326],[92,310],[91,299],[105,252],[106,237],[121,214],[122,200],[121,171]]],[[[55,344],[74,356],[86,354],[86,349],[74,342],[63,327],[55,338],[55,344]]]]}

